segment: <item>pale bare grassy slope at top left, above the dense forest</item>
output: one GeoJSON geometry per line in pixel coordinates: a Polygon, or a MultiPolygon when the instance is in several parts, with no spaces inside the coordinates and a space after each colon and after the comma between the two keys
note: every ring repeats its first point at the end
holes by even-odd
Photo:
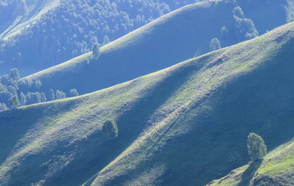
{"type": "Polygon", "coordinates": [[[50,8],[59,4],[59,0],[25,0],[28,8],[26,16],[18,16],[15,20],[7,20],[0,26],[0,39],[7,39],[9,36],[20,32],[21,29],[31,22],[40,19],[50,8]]]}

